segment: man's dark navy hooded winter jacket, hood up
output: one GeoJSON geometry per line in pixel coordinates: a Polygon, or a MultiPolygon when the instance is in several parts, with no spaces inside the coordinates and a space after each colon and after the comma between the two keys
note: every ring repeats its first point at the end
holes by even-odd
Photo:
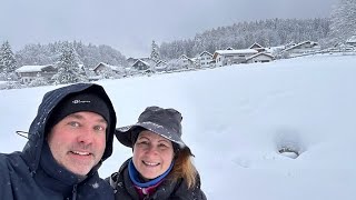
{"type": "Polygon", "coordinates": [[[44,94],[29,129],[22,152],[0,153],[0,199],[4,200],[112,200],[110,186],[99,178],[98,168],[112,153],[116,113],[103,88],[78,83],[44,94]],[[91,91],[105,99],[110,110],[110,126],[101,161],[86,178],[66,170],[53,159],[46,142],[46,124],[53,108],[70,93],[91,91]]]}

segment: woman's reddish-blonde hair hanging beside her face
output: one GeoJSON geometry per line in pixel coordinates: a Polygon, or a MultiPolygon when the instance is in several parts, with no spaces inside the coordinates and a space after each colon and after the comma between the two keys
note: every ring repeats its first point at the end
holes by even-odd
{"type": "Polygon", "coordinates": [[[197,184],[197,169],[192,164],[190,151],[185,149],[179,149],[176,154],[175,166],[169,174],[174,182],[179,179],[186,181],[188,189],[194,188],[197,184]]]}

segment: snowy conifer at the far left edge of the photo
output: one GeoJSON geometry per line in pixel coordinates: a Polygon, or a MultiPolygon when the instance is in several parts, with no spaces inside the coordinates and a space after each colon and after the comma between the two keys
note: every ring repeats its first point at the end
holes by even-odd
{"type": "Polygon", "coordinates": [[[13,77],[14,70],[17,69],[17,61],[11,50],[9,41],[2,43],[0,48],[0,72],[9,77],[13,77]]]}

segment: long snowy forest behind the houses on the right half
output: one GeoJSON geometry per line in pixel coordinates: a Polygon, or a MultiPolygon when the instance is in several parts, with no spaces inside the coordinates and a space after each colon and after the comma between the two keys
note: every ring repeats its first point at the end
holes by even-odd
{"type": "Polygon", "coordinates": [[[181,54],[195,57],[202,51],[214,53],[228,47],[245,49],[254,42],[275,47],[305,40],[319,41],[327,37],[329,27],[327,18],[245,21],[197,33],[194,39],[162,42],[159,53],[162,59],[170,60],[181,54]]]}

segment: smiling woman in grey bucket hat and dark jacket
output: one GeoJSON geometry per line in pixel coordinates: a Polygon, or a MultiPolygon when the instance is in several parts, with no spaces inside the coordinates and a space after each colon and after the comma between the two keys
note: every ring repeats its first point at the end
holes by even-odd
{"type": "Polygon", "coordinates": [[[148,107],[134,126],[119,128],[117,139],[134,156],[109,180],[117,200],[206,200],[190,149],[181,140],[181,114],[148,107]]]}

